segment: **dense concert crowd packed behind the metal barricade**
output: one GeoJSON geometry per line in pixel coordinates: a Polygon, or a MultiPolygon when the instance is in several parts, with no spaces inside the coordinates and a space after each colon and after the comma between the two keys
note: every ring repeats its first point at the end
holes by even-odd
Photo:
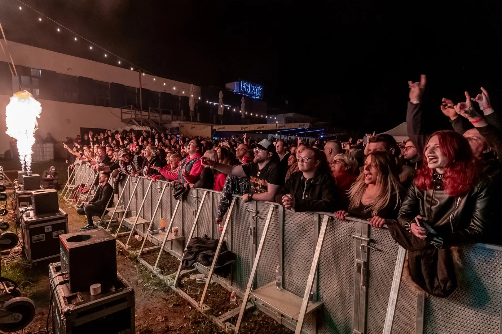
{"type": "Polygon", "coordinates": [[[409,251],[413,281],[430,294],[446,296],[456,287],[447,260],[450,247],[501,241],[492,203],[502,170],[502,121],[481,88],[474,98],[465,92],[465,102],[438,103],[452,129],[428,134],[421,103],[426,77],[409,87],[409,139],[402,143],[374,133],[355,142],[309,143],[155,131],[138,138],[133,131],[108,130],[77,136],[65,147],[69,163],[85,163],[114,178],[143,176],[179,188],[221,191],[218,223],[231,195],[238,194],[244,202],[273,201],[297,212],[334,212],[339,220],[355,216],[375,228],[386,225],[409,251]]]}

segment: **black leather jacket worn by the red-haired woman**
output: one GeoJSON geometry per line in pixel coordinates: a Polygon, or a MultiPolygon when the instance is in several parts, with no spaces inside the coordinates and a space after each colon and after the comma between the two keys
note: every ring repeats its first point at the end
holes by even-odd
{"type": "Polygon", "coordinates": [[[423,221],[437,232],[429,233],[427,238],[436,246],[478,242],[493,220],[493,209],[489,205],[491,189],[486,181],[481,180],[467,195],[451,197],[444,191],[443,176],[434,173],[431,189],[423,191],[414,183],[410,185],[398,222],[405,227],[407,222],[421,215],[423,221]]]}

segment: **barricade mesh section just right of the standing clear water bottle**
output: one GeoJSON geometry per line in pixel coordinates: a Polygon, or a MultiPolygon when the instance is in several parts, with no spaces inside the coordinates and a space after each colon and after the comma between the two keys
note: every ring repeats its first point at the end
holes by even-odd
{"type": "Polygon", "coordinates": [[[314,248],[314,214],[285,209],[283,284],[297,296],[305,293],[314,248]]]}

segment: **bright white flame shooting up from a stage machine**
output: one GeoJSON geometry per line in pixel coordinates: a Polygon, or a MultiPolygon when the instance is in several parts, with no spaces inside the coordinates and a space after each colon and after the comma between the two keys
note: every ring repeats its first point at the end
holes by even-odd
{"type": "Polygon", "coordinates": [[[6,133],[17,140],[21,170],[31,172],[32,146],[35,143],[35,131],[38,129],[42,107],[28,91],[20,91],[11,97],[5,110],[6,133]]]}

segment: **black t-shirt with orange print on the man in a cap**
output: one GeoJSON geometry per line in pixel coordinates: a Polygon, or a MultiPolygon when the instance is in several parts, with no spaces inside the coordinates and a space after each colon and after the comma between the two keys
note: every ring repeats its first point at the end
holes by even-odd
{"type": "Polygon", "coordinates": [[[258,163],[250,162],[242,165],[242,170],[249,178],[252,193],[267,192],[269,182],[278,186],[284,184],[279,167],[273,162],[269,162],[263,169],[260,169],[258,163]]]}

